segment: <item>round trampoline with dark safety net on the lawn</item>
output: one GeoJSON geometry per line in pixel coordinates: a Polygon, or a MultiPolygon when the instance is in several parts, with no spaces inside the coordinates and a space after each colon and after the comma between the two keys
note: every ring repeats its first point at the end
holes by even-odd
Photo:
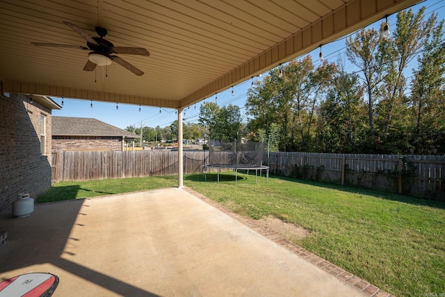
{"type": "Polygon", "coordinates": [[[224,143],[211,140],[209,145],[209,163],[204,164],[204,179],[207,181],[207,168],[217,170],[217,180],[220,182],[221,169],[231,169],[235,172],[235,183],[238,182],[238,170],[255,170],[255,184],[258,182],[258,172],[266,170],[266,182],[269,180],[269,167],[264,166],[264,143],[241,141],[224,143]]]}

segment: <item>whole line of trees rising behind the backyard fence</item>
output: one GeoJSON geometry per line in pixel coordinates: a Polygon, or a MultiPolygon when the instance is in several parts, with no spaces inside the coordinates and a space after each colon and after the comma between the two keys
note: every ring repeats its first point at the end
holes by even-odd
{"type": "MultiPolygon", "coordinates": [[[[444,20],[425,9],[398,13],[389,36],[386,22],[350,35],[337,61],[308,55],[271,70],[248,90],[247,119],[238,106],[202,104],[184,139],[247,138],[288,152],[444,154],[444,20]]],[[[143,127],[143,140],[176,139],[177,125],[143,127]]]]}

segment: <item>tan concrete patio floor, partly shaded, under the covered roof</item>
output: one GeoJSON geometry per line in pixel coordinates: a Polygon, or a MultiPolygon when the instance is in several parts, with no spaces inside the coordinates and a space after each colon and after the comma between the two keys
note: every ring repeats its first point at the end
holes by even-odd
{"type": "Polygon", "coordinates": [[[183,188],[4,211],[1,231],[0,281],[53,273],[53,296],[387,296],[183,188]]]}

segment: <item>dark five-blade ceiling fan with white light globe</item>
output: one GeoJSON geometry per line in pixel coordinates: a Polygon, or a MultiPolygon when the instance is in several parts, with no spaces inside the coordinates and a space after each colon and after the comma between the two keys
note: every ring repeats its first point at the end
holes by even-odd
{"type": "Polygon", "coordinates": [[[119,65],[127,70],[130,70],[134,74],[141,76],[144,72],[140,71],[135,66],[131,65],[124,59],[113,56],[112,54],[130,54],[130,55],[140,55],[140,56],[149,56],[149,52],[147,49],[142,47],[115,47],[113,43],[106,40],[104,37],[108,31],[102,27],[97,26],[96,32],[99,37],[91,37],[87,33],[85,33],[78,26],[71,24],[69,22],[63,22],[67,26],[70,26],[76,33],[79,33],[86,40],[86,47],[79,45],[59,45],[57,43],[43,43],[43,42],[31,42],[31,45],[35,45],[38,47],[68,47],[73,49],[83,49],[87,51],[91,51],[88,54],[88,61],[83,67],[85,71],[95,70],[96,66],[105,66],[110,65],[112,61],[115,61],[119,65]]]}

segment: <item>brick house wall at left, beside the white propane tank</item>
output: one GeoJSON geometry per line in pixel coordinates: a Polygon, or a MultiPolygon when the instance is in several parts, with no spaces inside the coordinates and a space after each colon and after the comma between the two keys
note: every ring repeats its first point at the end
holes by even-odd
{"type": "Polygon", "coordinates": [[[0,211],[19,193],[36,198],[51,187],[51,110],[27,95],[0,94],[0,211]],[[40,153],[40,115],[46,115],[46,155],[40,153]]]}

